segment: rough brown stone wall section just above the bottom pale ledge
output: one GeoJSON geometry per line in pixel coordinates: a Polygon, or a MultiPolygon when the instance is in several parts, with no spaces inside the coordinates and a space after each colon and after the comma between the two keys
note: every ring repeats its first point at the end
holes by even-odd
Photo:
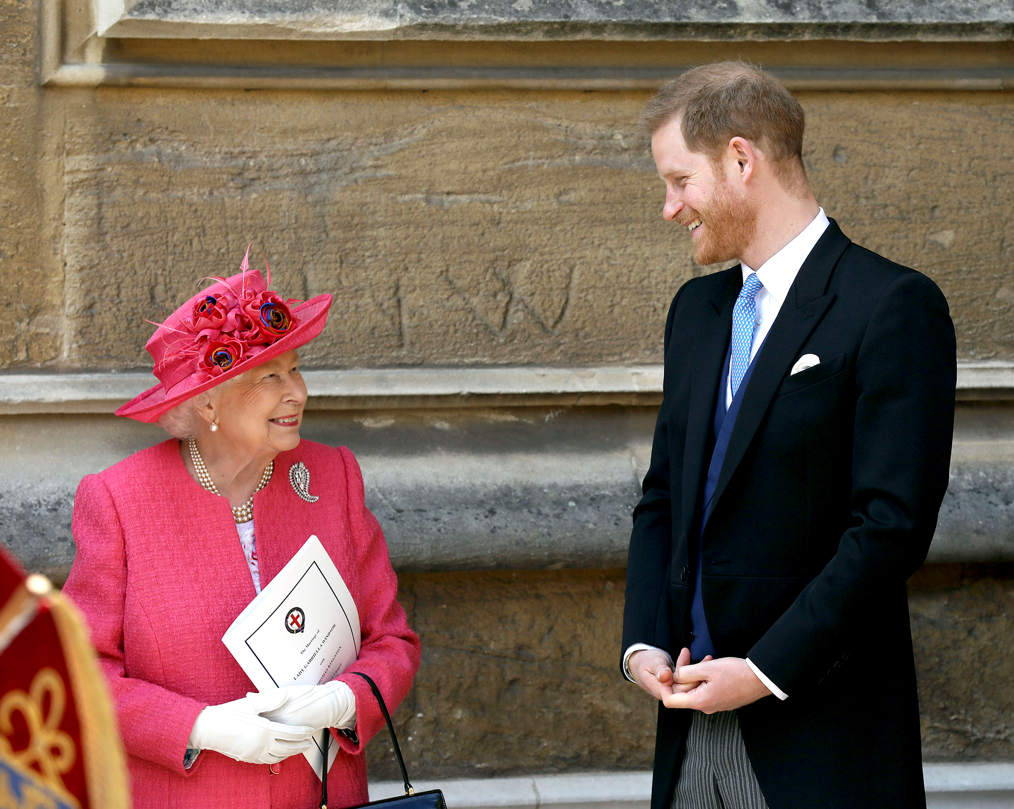
{"type": "MultiPolygon", "coordinates": [[[[654,704],[623,680],[622,571],[400,577],[423,643],[394,715],[421,779],[648,769],[654,704]],[[410,740],[411,739],[411,740],[410,740]]],[[[910,585],[926,760],[1014,759],[1014,569],[924,568],[910,585]]],[[[384,736],[371,777],[395,778],[384,736]]]]}

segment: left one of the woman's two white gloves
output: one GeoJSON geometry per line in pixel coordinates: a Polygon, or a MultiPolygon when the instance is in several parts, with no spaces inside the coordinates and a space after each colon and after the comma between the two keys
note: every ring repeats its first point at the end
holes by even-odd
{"type": "Polygon", "coordinates": [[[197,716],[188,747],[214,750],[251,764],[274,764],[308,750],[313,744],[313,728],[281,725],[261,716],[285,704],[280,690],[208,706],[197,716]]]}

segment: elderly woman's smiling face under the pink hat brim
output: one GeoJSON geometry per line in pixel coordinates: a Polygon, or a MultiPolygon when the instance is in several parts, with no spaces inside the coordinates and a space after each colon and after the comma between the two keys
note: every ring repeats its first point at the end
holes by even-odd
{"type": "Polygon", "coordinates": [[[294,351],[241,374],[211,396],[219,437],[248,455],[295,449],[305,404],[306,384],[294,351]]]}

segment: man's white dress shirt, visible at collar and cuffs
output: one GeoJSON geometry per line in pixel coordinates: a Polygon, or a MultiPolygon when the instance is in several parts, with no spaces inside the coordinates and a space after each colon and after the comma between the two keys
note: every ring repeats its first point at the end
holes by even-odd
{"type": "MultiPolygon", "coordinates": [[[[789,289],[799,274],[799,268],[803,266],[806,256],[810,254],[810,251],[829,224],[827,215],[824,214],[824,210],[821,208],[817,212],[817,215],[813,217],[813,221],[803,228],[798,236],[772,255],[756,271],[757,279],[759,279],[764,286],[753,298],[756,301],[756,326],[753,330],[753,344],[750,347],[750,362],[753,361],[757,349],[764,344],[765,338],[768,337],[768,333],[771,330],[772,323],[778,317],[778,313],[782,309],[782,304],[785,303],[785,298],[789,294],[789,289]]],[[[743,283],[745,283],[750,273],[754,271],[742,263],[740,263],[740,269],[743,273],[743,283]]],[[[731,380],[727,380],[725,385],[725,407],[728,408],[730,404],[732,404],[732,382],[731,380]]],[[[631,644],[624,652],[624,674],[627,675],[627,679],[631,682],[635,680],[631,676],[628,663],[630,662],[631,655],[641,649],[654,649],[668,657],[668,653],[664,650],[657,649],[649,644],[631,644]]],[[[789,694],[765,676],[764,672],[753,665],[753,662],[749,658],[746,658],[746,665],[750,667],[750,670],[757,675],[760,682],[768,686],[768,689],[779,700],[788,697],[789,694]]],[[[671,657],[669,657],[669,666],[672,666],[671,657]]]]}

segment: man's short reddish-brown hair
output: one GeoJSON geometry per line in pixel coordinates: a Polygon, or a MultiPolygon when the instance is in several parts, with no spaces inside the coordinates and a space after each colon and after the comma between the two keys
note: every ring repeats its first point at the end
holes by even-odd
{"type": "Polygon", "coordinates": [[[640,129],[650,137],[674,118],[694,152],[717,160],[738,136],[757,145],[784,185],[806,176],[803,107],[782,82],[754,65],[728,61],[687,70],[648,101],[640,129]]]}

